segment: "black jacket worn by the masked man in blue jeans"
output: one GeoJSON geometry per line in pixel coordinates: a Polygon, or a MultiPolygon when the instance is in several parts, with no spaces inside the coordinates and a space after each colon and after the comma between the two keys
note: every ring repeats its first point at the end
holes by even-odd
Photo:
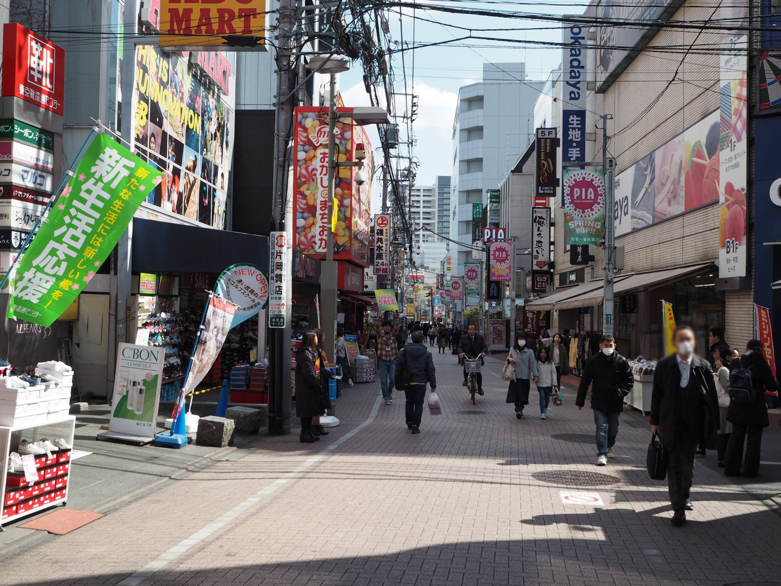
{"type": "Polygon", "coordinates": [[[578,387],[576,406],[586,405],[588,385],[591,385],[591,409],[602,413],[621,413],[624,397],[629,395],[634,386],[634,376],[626,358],[618,352],[613,352],[613,356],[608,358],[600,350],[586,363],[578,387]]]}

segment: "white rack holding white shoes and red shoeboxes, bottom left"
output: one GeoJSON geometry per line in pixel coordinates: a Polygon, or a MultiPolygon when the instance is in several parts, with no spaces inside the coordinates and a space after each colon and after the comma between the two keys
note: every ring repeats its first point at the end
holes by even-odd
{"type": "Polygon", "coordinates": [[[28,483],[24,473],[9,472],[9,454],[18,452],[21,441],[34,443],[41,438],[65,438],[73,445],[76,417],[63,415],[58,420],[14,427],[0,427],[0,531],[2,527],[32,513],[40,513],[53,506],[64,506],[68,498],[70,478],[70,449],[60,449],[34,456],[38,480],[28,483]]]}

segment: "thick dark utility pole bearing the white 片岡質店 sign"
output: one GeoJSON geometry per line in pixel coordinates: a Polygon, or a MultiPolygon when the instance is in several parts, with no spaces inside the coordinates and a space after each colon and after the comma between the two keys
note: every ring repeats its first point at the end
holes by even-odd
{"type": "MultiPolygon", "coordinates": [[[[294,100],[292,96],[292,76],[290,71],[290,50],[287,48],[295,27],[296,4],[293,0],[280,0],[277,16],[276,46],[276,120],[274,123],[274,178],[273,227],[287,233],[287,266],[292,263],[292,222],[288,215],[291,203],[285,202],[285,178],[287,177],[287,129],[293,118],[294,100]]],[[[292,280],[291,271],[287,279],[292,280]]],[[[291,291],[291,282],[287,283],[291,291]]],[[[291,303],[287,303],[285,327],[273,328],[269,344],[269,435],[284,435],[291,432],[291,303]]],[[[264,327],[265,324],[259,324],[264,327]]]]}

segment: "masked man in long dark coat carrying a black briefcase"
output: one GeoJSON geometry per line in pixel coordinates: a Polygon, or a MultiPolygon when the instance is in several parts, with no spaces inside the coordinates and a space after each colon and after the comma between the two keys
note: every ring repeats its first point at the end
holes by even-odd
{"type": "Polygon", "coordinates": [[[694,456],[704,440],[716,447],[719,429],[719,397],[711,366],[694,355],[694,330],[676,327],[672,342],[677,352],[659,361],[654,370],[651,395],[651,431],[667,453],[667,482],[673,525],[686,523],[686,511],[694,509],[689,500],[694,480],[694,456]]]}

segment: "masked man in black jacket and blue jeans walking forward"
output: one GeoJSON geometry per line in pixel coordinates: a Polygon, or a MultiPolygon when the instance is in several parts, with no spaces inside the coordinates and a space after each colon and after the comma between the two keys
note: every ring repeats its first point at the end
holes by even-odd
{"type": "Polygon", "coordinates": [[[597,425],[597,466],[604,466],[608,458],[615,458],[613,446],[619,434],[619,416],[624,410],[624,397],[632,391],[634,376],[626,358],[615,352],[615,338],[604,334],[599,348],[599,354],[591,356],[586,363],[575,404],[583,409],[591,385],[591,409],[597,425]]]}

